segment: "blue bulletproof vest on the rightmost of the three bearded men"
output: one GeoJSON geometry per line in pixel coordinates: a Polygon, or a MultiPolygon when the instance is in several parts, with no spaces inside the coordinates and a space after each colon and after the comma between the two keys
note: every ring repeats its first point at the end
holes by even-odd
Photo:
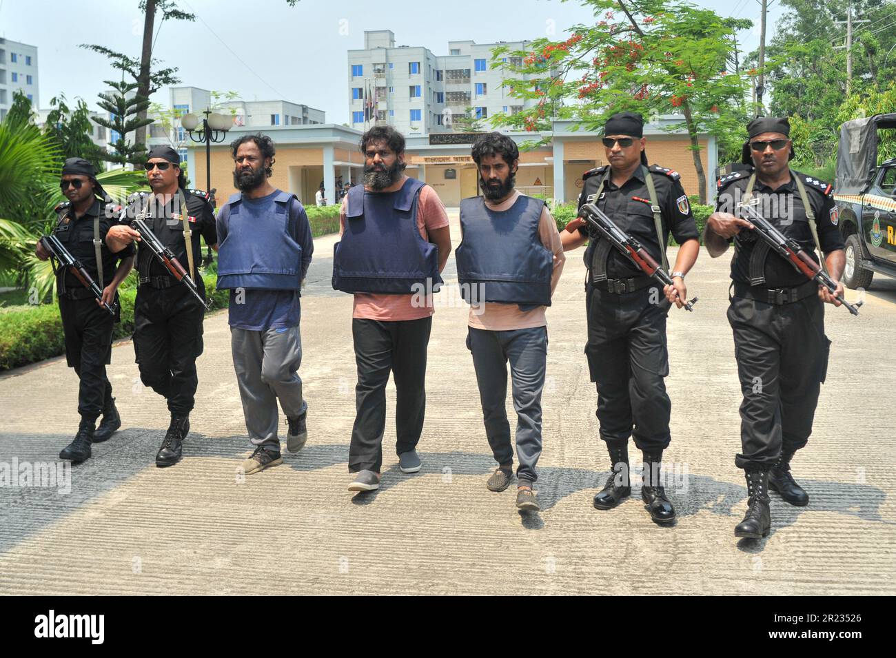
{"type": "Polygon", "coordinates": [[[545,202],[520,196],[510,209],[488,209],[482,197],[461,201],[461,244],[454,251],[467,303],[518,303],[524,311],[551,305],[554,254],[538,237],[545,202]],[[485,299],[472,288],[483,284],[485,299]]]}

